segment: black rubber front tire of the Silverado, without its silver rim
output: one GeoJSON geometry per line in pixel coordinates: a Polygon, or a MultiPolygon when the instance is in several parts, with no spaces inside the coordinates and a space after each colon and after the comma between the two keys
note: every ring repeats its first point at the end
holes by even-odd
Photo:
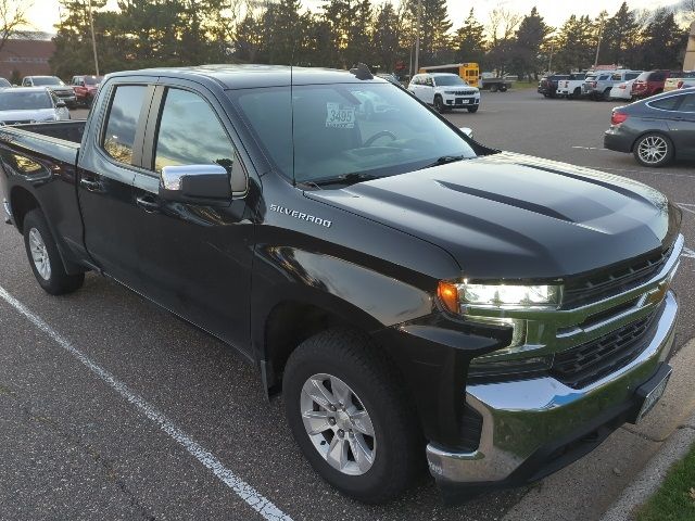
{"type": "Polygon", "coordinates": [[[282,379],[287,419],[306,459],[340,492],[370,504],[397,497],[426,468],[417,412],[404,389],[400,374],[368,336],[346,329],[324,331],[305,340],[290,356],[282,379]],[[371,467],[361,475],[349,475],[329,465],[304,427],[302,389],[317,374],[342,380],[368,412],[375,453],[371,467]]]}

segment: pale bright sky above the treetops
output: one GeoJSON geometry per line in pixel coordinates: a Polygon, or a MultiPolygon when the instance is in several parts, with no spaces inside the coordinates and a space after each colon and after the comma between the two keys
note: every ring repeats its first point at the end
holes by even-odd
{"type": "MultiPolygon", "coordinates": [[[[21,2],[31,2],[28,11],[28,18],[33,28],[54,33],[53,25],[59,21],[59,2],[58,0],[20,0],[21,2]]],[[[614,14],[622,0],[583,0],[571,2],[567,0],[447,0],[448,13],[454,24],[454,28],[460,26],[468,15],[471,7],[476,10],[476,17],[481,22],[488,21],[488,14],[497,5],[518,12],[521,14],[529,13],[534,5],[539,7],[539,12],[551,26],[558,27],[571,14],[596,16],[602,10],[614,14]]],[[[374,0],[375,4],[381,3],[381,0],[374,0]]],[[[678,0],[628,0],[630,9],[655,9],[665,5],[673,5],[678,0]]],[[[109,0],[110,7],[115,7],[115,0],[109,0]]],[[[302,4],[312,11],[318,9],[321,4],[320,0],[302,0],[302,4]]]]}

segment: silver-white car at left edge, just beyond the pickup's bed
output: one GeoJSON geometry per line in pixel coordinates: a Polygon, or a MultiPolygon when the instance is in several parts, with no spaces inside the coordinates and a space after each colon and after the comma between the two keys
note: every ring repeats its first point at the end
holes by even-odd
{"type": "Polygon", "coordinates": [[[70,119],[65,102],[46,87],[0,89],[0,123],[17,125],[70,119]]]}

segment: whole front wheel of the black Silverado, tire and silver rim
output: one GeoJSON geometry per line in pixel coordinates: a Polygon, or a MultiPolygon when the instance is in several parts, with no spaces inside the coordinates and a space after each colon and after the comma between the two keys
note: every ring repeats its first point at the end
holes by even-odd
{"type": "Polygon", "coordinates": [[[282,379],[287,419],[318,474],[366,503],[400,495],[424,460],[404,384],[377,346],[351,330],[304,341],[282,379]]]}

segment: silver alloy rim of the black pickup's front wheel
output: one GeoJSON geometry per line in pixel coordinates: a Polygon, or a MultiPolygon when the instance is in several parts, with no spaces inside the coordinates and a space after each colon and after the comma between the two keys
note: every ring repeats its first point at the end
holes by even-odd
{"type": "Polygon", "coordinates": [[[374,427],[350,385],[331,374],[314,374],[302,386],[300,407],[306,434],[328,465],[348,475],[371,468],[377,454],[374,427]]]}

